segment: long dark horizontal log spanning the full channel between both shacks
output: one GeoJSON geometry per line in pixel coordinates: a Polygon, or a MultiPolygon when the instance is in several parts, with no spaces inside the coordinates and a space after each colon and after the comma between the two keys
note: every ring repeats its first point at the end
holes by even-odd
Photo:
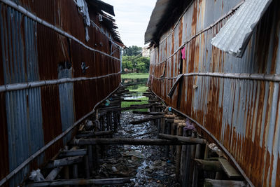
{"type": "Polygon", "coordinates": [[[113,139],[73,139],[73,145],[148,145],[148,146],[166,146],[166,145],[187,145],[201,144],[201,140],[184,139],[167,140],[167,139],[130,139],[130,138],[113,138],[113,139]]]}

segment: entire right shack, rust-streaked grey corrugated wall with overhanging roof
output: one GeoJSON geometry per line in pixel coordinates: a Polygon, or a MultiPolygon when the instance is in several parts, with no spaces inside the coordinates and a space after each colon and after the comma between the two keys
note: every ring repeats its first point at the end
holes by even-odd
{"type": "Polygon", "coordinates": [[[193,119],[255,186],[280,185],[279,7],[276,0],[158,0],[146,31],[153,92],[193,119]],[[232,56],[211,42],[240,9],[235,33],[219,36],[232,37],[230,47],[260,18],[232,56]]]}

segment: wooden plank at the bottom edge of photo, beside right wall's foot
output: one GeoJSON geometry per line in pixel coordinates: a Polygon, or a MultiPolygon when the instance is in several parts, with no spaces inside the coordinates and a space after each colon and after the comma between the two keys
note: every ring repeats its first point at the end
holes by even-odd
{"type": "Polygon", "coordinates": [[[245,187],[248,186],[244,181],[225,181],[225,180],[214,180],[205,179],[204,187],[245,187]]]}

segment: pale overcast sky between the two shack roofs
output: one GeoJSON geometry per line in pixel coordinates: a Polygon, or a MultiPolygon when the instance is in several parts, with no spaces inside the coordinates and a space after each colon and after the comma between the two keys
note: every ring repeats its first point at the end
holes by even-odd
{"type": "Polygon", "coordinates": [[[156,0],[102,0],[114,7],[120,39],[125,46],[144,46],[144,35],[156,0]]]}

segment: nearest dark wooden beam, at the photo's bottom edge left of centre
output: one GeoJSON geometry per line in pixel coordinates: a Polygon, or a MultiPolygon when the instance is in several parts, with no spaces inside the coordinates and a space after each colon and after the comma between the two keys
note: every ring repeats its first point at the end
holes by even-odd
{"type": "Polygon", "coordinates": [[[40,186],[64,186],[64,185],[110,185],[130,183],[130,178],[113,178],[113,179],[69,179],[69,180],[55,180],[55,181],[39,181],[28,183],[27,187],[40,187],[40,186]]]}

